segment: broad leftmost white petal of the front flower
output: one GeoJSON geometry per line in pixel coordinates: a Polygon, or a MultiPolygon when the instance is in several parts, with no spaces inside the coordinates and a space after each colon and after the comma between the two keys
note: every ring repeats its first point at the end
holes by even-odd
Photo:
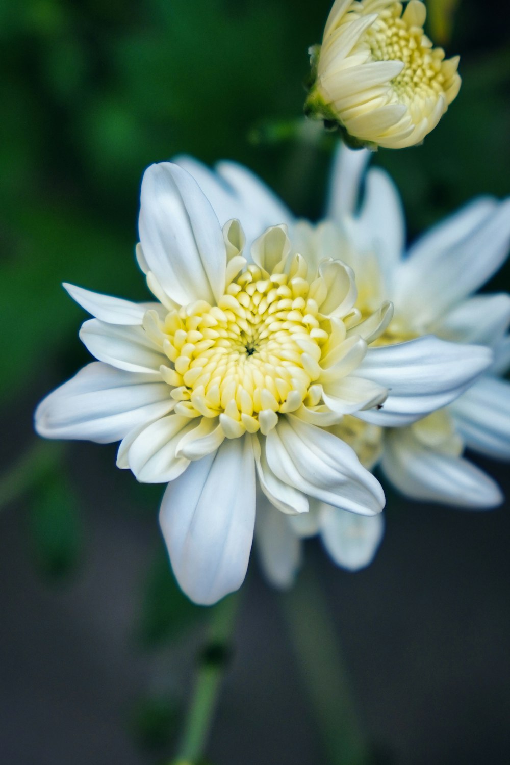
{"type": "Polygon", "coordinates": [[[44,438],[109,444],[166,415],[174,406],[169,392],[166,383],[154,382],[151,375],[93,362],[39,404],[35,429],[44,438]]]}

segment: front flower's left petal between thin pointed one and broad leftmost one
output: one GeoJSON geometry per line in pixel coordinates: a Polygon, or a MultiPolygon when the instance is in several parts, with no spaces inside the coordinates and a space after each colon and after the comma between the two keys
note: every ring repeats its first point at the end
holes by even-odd
{"type": "Polygon", "coordinates": [[[81,326],[80,340],[96,359],[127,372],[152,374],[155,379],[161,379],[159,368],[168,363],[167,356],[142,327],[89,319],[81,326]]]}

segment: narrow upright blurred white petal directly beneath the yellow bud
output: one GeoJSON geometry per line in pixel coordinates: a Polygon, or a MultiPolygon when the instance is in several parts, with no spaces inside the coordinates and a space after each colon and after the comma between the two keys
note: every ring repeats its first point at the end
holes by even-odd
{"type": "Polygon", "coordinates": [[[339,142],[333,158],[326,217],[340,223],[344,215],[353,215],[359,201],[362,176],[369,163],[368,149],[353,151],[339,142]]]}

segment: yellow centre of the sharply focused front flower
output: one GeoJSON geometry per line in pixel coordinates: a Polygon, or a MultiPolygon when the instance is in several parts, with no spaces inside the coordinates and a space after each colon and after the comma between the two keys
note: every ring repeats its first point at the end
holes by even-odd
{"type": "Polygon", "coordinates": [[[220,416],[234,437],[265,433],[277,413],[317,403],[310,386],[330,336],[319,311],[327,288],[321,277],[307,282],[305,270],[297,259],[289,275],[252,264],[216,306],[197,301],[167,314],[163,350],[174,368],[161,371],[176,413],[220,416]]]}

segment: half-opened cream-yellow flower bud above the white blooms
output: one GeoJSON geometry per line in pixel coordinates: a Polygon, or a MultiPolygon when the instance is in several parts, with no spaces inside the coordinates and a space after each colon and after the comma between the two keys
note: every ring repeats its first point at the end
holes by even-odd
{"type": "Polygon", "coordinates": [[[423,141],[460,89],[459,57],[445,60],[410,0],[336,0],[321,46],[310,49],[305,109],[339,126],[350,145],[404,148],[423,141]]]}

